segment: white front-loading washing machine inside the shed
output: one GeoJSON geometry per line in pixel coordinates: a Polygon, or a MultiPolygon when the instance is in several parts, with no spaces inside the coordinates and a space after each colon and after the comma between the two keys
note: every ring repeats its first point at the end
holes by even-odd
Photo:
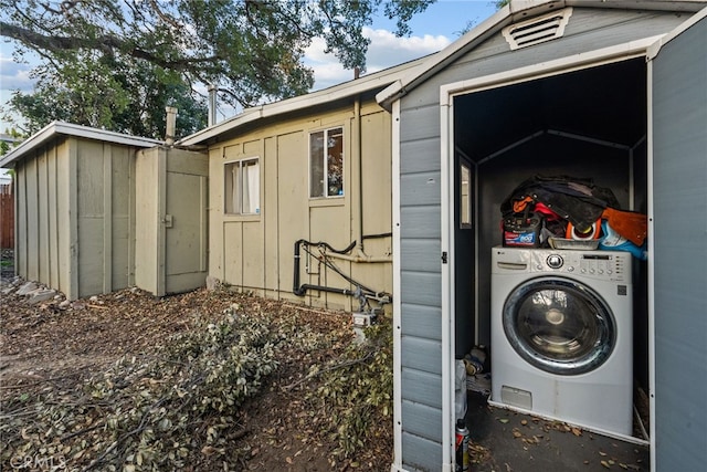
{"type": "Polygon", "coordinates": [[[631,254],[494,248],[492,264],[489,402],[631,436],[631,254]]]}

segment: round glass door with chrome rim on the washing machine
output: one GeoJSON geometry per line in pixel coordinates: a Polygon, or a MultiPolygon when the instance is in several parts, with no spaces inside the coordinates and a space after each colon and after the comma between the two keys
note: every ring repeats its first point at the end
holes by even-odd
{"type": "Polygon", "coordinates": [[[518,285],[504,304],[503,326],[526,361],[557,375],[598,368],[616,343],[614,317],[604,300],[588,285],[557,276],[518,285]]]}

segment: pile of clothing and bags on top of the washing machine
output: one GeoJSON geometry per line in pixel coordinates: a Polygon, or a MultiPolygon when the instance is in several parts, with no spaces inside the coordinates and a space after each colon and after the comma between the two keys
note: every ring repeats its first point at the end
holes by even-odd
{"type": "Polygon", "coordinates": [[[647,218],[620,208],[613,191],[570,176],[527,179],[503,201],[505,247],[547,248],[552,238],[598,240],[598,248],[646,259],[647,218]]]}

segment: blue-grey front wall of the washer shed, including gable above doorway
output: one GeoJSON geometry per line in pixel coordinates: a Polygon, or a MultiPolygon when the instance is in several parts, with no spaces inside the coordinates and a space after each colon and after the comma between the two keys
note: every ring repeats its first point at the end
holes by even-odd
{"type": "Polygon", "coordinates": [[[662,34],[687,18],[574,8],[563,38],[510,51],[497,33],[401,98],[400,395],[405,470],[437,471],[442,464],[440,86],[662,34]],[[426,428],[421,428],[421,418],[426,428]]]}

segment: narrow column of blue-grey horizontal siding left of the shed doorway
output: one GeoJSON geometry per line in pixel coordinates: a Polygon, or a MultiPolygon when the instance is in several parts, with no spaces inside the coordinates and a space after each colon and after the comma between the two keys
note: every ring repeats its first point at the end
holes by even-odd
{"type": "Polygon", "coordinates": [[[409,470],[436,471],[442,465],[440,112],[433,103],[407,108],[407,98],[400,161],[402,461],[409,470]]]}

